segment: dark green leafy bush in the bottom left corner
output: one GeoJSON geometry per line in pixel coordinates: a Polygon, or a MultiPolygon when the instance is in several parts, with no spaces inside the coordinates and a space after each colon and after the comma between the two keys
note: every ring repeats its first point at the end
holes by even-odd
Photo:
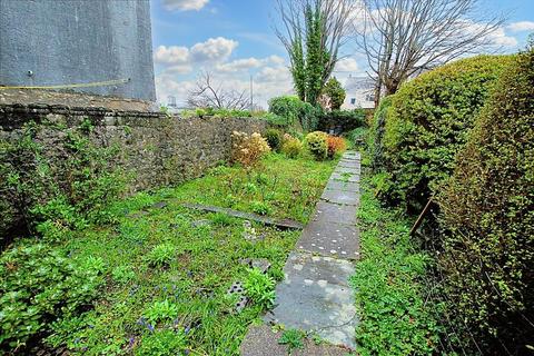
{"type": "Polygon", "coordinates": [[[14,349],[50,332],[97,297],[103,279],[44,244],[19,246],[0,257],[0,349],[14,349]]]}

